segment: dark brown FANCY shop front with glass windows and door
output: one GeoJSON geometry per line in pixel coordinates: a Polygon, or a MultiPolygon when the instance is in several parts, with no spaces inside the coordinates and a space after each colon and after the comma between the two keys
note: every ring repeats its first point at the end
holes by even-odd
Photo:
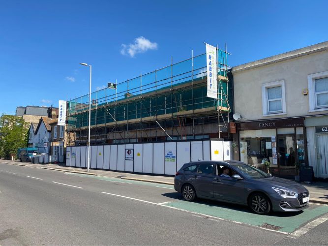
{"type": "Polygon", "coordinates": [[[307,165],[304,118],[237,123],[240,161],[263,168],[270,162],[275,176],[295,176],[307,165]]]}

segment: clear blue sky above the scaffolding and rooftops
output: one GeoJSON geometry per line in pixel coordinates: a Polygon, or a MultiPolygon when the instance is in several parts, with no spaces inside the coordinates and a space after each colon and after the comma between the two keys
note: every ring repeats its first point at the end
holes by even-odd
{"type": "Polygon", "coordinates": [[[0,114],[58,107],[205,52],[235,66],[328,40],[327,0],[0,0],[0,114]],[[142,38],[143,37],[143,38],[142,38]],[[139,38],[139,39],[138,39],[139,38]],[[138,53],[140,52],[140,53],[138,53]]]}

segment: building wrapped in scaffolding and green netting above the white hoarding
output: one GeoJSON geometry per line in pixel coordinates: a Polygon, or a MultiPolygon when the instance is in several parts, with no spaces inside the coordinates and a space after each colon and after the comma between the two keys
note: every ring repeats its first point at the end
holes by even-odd
{"type": "MultiPolygon", "coordinates": [[[[218,99],[207,97],[206,54],[91,93],[91,144],[227,138],[233,106],[228,56],[217,49],[218,99]]],[[[89,94],[67,107],[71,144],[86,145],[89,94]]]]}

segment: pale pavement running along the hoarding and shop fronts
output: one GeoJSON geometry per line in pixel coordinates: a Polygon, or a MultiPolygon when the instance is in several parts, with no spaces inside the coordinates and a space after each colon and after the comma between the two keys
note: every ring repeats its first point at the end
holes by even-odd
{"type": "MultiPolygon", "coordinates": [[[[174,177],[161,176],[161,175],[145,175],[145,174],[135,174],[135,173],[126,173],[119,171],[107,171],[107,170],[95,170],[79,167],[70,167],[65,166],[64,164],[32,164],[30,162],[20,162],[20,161],[11,161],[11,160],[0,160],[2,163],[21,165],[21,166],[30,166],[43,169],[57,170],[67,173],[78,173],[78,174],[87,174],[93,176],[101,176],[108,178],[119,178],[122,180],[133,180],[133,181],[143,181],[157,184],[169,184],[174,185],[174,177]]],[[[301,183],[306,187],[310,192],[310,202],[328,204],[328,182],[312,182],[311,184],[301,183]]]]}

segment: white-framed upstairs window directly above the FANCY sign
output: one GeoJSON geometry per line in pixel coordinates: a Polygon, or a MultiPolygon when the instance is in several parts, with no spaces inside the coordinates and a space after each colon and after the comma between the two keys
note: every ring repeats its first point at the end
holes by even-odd
{"type": "Polygon", "coordinates": [[[285,81],[262,84],[263,115],[286,114],[285,81]]]}

